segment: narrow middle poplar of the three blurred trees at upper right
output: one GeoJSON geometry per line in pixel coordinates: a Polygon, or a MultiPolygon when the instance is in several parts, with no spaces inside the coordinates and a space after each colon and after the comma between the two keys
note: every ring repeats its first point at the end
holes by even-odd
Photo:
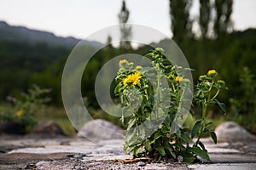
{"type": "Polygon", "coordinates": [[[211,20],[211,3],[210,0],[200,0],[200,18],[199,18],[199,26],[201,29],[201,37],[206,38],[209,22],[211,20]]]}

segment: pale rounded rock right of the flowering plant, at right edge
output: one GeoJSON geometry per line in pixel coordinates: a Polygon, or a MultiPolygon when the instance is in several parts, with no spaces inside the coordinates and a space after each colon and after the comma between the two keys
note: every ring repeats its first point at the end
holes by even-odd
{"type": "Polygon", "coordinates": [[[215,129],[218,141],[230,141],[233,139],[255,139],[244,127],[236,122],[223,122],[215,129]]]}

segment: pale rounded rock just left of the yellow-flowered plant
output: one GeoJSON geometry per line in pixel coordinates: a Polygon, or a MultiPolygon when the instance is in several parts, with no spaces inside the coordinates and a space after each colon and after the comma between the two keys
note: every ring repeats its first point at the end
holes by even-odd
{"type": "Polygon", "coordinates": [[[80,138],[93,140],[124,139],[125,133],[111,122],[102,119],[96,119],[90,122],[86,122],[84,126],[79,129],[77,136],[80,138]]]}

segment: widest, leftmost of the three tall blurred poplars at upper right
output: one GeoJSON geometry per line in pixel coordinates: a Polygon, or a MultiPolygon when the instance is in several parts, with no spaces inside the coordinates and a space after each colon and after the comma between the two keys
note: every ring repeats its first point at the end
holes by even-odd
{"type": "Polygon", "coordinates": [[[170,16],[173,39],[183,42],[185,37],[192,37],[192,21],[189,19],[191,0],[170,0],[170,16]]]}

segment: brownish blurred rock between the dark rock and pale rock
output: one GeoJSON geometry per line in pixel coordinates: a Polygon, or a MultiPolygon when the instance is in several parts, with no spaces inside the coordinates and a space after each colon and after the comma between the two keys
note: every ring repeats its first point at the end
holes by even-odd
{"type": "Polygon", "coordinates": [[[39,122],[29,136],[40,138],[55,138],[66,136],[61,127],[53,121],[39,122]]]}

